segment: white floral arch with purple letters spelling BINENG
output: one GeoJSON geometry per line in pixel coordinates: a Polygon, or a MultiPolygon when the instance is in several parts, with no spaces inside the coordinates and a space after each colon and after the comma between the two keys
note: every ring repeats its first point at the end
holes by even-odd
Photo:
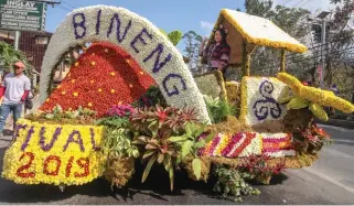
{"type": "Polygon", "coordinates": [[[51,73],[63,54],[86,42],[108,41],[124,48],[154,78],[171,106],[195,108],[211,122],[205,102],[175,46],[150,21],[122,8],[95,6],[74,10],[56,29],[42,64],[40,98],[47,98],[51,73]]]}

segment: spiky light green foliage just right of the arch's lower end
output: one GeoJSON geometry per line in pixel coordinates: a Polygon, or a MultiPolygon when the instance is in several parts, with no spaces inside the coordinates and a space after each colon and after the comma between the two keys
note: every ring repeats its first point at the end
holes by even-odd
{"type": "Polygon", "coordinates": [[[227,116],[235,116],[237,112],[237,108],[227,100],[204,96],[204,101],[212,123],[219,123],[224,121],[227,116]]]}

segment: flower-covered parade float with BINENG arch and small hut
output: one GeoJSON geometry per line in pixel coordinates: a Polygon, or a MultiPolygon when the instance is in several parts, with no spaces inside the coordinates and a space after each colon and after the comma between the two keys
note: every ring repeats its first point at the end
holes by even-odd
{"type": "Polygon", "coordinates": [[[258,193],[248,181],[269,184],[283,169],[311,165],[330,141],[313,120],[328,120],[323,107],[350,113],[354,106],[286,73],[286,51],[307,47],[272,22],[224,9],[219,25],[229,32],[240,83],[224,82],[219,72],[193,77],[168,37],[126,9],[74,10],[49,44],[42,106],[18,121],[3,177],[61,187],[105,177],[124,187],[141,162],[142,183],[152,166],[162,166],[172,191],[181,169],[194,181],[216,176],[213,189],[240,200],[258,193]],[[63,55],[86,43],[92,44],[54,87],[63,55]],[[279,48],[276,77],[250,76],[257,46],[279,48]]]}

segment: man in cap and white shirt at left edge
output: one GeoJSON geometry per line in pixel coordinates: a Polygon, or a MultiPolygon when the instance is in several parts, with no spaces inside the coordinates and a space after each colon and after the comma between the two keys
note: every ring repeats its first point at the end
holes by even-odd
{"type": "Polygon", "coordinates": [[[0,87],[0,98],[3,97],[0,115],[0,137],[11,111],[14,127],[17,120],[21,117],[23,102],[30,94],[31,80],[23,74],[24,68],[22,62],[17,62],[13,65],[13,74],[6,75],[0,87]]]}

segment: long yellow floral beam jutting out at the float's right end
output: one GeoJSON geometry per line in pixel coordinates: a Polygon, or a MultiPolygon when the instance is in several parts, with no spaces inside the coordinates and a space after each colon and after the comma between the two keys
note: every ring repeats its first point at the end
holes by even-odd
{"type": "Polygon", "coordinates": [[[320,106],[334,107],[346,113],[354,112],[354,105],[345,99],[336,97],[332,91],[304,86],[300,80],[287,73],[279,73],[277,77],[287,84],[293,93],[302,99],[320,106]]]}

